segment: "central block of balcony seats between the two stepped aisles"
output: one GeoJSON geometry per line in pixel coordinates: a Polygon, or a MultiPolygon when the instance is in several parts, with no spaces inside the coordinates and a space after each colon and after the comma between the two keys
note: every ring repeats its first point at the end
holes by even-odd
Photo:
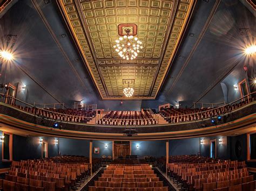
{"type": "Polygon", "coordinates": [[[142,111],[109,111],[97,121],[100,125],[153,125],[156,119],[148,110],[142,111]]]}

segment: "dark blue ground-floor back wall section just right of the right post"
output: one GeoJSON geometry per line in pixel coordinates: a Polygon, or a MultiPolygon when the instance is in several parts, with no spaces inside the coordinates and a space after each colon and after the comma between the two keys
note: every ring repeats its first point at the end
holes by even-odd
{"type": "Polygon", "coordinates": [[[199,138],[169,140],[169,155],[197,154],[199,138]]]}

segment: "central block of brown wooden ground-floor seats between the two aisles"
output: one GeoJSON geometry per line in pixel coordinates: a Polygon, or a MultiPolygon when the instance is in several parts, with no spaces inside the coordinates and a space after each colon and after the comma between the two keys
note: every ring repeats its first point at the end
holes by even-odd
{"type": "Polygon", "coordinates": [[[167,191],[169,189],[159,180],[157,174],[154,174],[149,164],[110,164],[94,182],[94,186],[89,186],[89,191],[95,190],[167,191]]]}

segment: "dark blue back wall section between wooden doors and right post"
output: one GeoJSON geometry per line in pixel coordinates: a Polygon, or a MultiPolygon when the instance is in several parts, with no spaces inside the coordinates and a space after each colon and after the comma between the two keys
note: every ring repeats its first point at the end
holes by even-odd
{"type": "Polygon", "coordinates": [[[132,155],[162,157],[166,155],[165,140],[136,141],[132,142],[132,155]],[[137,145],[139,146],[137,148],[137,145]]]}

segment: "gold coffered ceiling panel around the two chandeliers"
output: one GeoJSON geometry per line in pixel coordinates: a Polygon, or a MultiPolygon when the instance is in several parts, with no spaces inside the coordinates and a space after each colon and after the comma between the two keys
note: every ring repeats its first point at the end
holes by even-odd
{"type": "Polygon", "coordinates": [[[124,79],[134,81],[132,99],[156,98],[195,0],[58,1],[103,100],[125,98],[124,79]],[[144,47],[130,61],[113,48],[125,23],[137,25],[144,47]]]}

